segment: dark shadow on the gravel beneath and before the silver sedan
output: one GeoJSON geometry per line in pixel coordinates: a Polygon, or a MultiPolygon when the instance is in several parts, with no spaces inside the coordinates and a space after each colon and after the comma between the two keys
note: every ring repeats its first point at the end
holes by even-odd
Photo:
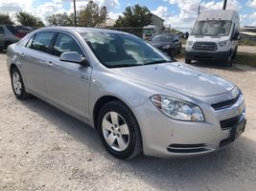
{"type": "Polygon", "coordinates": [[[22,104],[103,156],[106,163],[111,163],[109,171],[120,173],[122,169],[122,173],[142,180],[152,189],[242,190],[244,183],[253,186],[256,182],[256,142],[244,136],[218,152],[198,157],[157,159],[141,155],[119,160],[105,151],[97,131],[81,121],[35,97],[22,104]]]}

